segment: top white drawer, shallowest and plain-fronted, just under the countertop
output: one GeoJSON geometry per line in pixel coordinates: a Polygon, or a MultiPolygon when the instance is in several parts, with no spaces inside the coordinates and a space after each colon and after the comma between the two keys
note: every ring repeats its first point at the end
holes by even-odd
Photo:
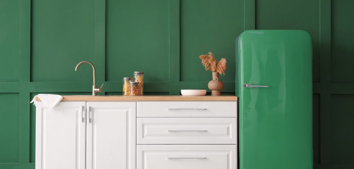
{"type": "Polygon", "coordinates": [[[235,101],[137,102],[137,117],[236,117],[235,101]]]}

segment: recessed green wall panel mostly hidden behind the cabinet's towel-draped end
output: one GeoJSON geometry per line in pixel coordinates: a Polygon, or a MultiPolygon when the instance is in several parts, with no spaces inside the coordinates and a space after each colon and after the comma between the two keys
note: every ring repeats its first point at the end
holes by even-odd
{"type": "MultiPolygon", "coordinates": [[[[30,100],[35,95],[39,93],[30,93],[30,100]]],[[[47,94],[55,95],[91,95],[89,92],[47,92],[47,94]]],[[[30,119],[29,119],[29,162],[34,163],[36,160],[36,107],[33,104],[30,104],[30,119]]]]}

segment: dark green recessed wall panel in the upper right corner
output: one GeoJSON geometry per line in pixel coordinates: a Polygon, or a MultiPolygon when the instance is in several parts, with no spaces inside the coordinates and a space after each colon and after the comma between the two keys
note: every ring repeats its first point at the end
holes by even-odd
{"type": "Polygon", "coordinates": [[[333,83],[354,83],[354,1],[332,1],[331,80],[333,83]]]}

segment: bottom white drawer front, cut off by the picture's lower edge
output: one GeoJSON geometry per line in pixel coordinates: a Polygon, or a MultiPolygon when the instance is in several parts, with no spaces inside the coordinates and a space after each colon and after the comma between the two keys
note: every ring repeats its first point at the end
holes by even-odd
{"type": "Polygon", "coordinates": [[[137,169],[236,169],[236,145],[137,145],[137,169]]]}

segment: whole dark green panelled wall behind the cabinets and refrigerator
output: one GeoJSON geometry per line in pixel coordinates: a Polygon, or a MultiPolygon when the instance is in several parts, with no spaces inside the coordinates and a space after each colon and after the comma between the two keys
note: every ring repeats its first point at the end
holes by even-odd
{"type": "MultiPolygon", "coordinates": [[[[198,56],[227,59],[235,92],[237,36],[303,29],[313,39],[315,169],[354,168],[354,1],[0,0],[0,169],[34,169],[37,93],[121,95],[122,77],[145,72],[146,95],[207,89],[198,56]]],[[[299,105],[301,106],[301,105],[299,105]]]]}

